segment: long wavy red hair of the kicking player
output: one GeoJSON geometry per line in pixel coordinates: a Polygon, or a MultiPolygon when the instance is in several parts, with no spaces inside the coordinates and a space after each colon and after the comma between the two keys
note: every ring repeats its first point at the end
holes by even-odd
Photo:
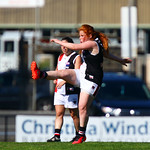
{"type": "Polygon", "coordinates": [[[92,40],[95,40],[96,38],[99,38],[100,41],[103,44],[104,49],[108,52],[108,38],[104,33],[97,32],[94,30],[94,28],[88,24],[82,25],[78,31],[83,31],[87,36],[92,35],[92,40]]]}

